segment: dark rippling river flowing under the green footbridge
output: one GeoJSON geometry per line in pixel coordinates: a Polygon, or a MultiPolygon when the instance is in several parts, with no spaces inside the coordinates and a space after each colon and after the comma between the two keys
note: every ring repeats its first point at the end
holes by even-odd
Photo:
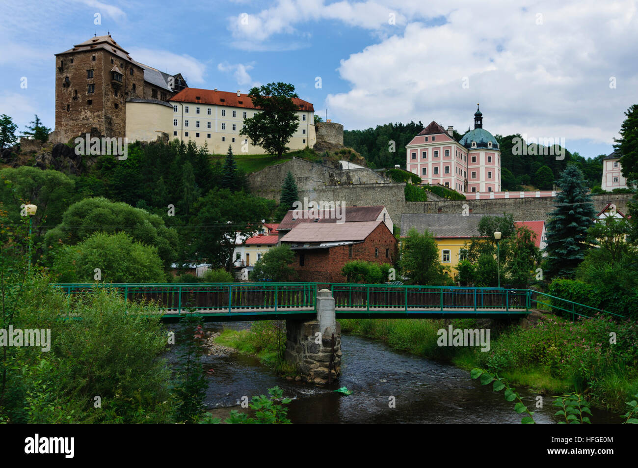
{"type": "MultiPolygon", "coordinates": [[[[227,328],[247,328],[246,322],[226,323],[227,328]]],[[[172,329],[173,326],[170,326],[172,329]]],[[[207,331],[220,331],[223,324],[208,323],[207,331]]],[[[178,339],[181,339],[179,337],[178,339]]],[[[186,338],[186,337],[183,337],[186,338]]],[[[341,336],[341,377],[330,388],[320,388],[278,377],[258,359],[232,352],[228,356],[204,356],[209,372],[205,405],[223,418],[242,396],[266,394],[279,386],[292,398],[288,418],[292,423],[520,423],[514,403],[503,391],[491,391],[466,370],[453,365],[394,351],[382,342],[360,336],[341,336]],[[334,392],[341,386],[352,395],[334,392]],[[395,407],[390,407],[394,397],[395,407]]],[[[553,398],[544,396],[537,408],[535,393],[517,391],[535,411],[537,423],[557,423],[553,398]]],[[[591,410],[595,423],[620,423],[619,416],[591,410]]]]}

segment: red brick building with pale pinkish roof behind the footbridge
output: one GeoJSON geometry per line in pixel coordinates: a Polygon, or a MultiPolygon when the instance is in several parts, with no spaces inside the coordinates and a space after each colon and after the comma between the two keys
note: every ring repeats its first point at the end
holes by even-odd
{"type": "Polygon", "coordinates": [[[295,252],[299,281],[343,283],[341,268],[352,260],[393,264],[397,239],[382,220],[299,223],[281,238],[295,252]]]}

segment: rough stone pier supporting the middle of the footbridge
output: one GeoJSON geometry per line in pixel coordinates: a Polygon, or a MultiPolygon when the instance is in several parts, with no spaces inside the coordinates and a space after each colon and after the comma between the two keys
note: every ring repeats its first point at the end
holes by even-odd
{"type": "Polygon", "coordinates": [[[297,366],[302,379],[318,385],[341,374],[341,324],[329,289],[317,292],[315,320],[286,320],[285,360],[297,366]]]}

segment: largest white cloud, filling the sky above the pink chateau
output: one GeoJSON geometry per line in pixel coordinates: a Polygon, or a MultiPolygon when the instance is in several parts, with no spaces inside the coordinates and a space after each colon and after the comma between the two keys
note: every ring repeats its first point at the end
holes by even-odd
{"type": "Polygon", "coordinates": [[[638,86],[633,1],[604,9],[541,1],[528,11],[499,1],[473,5],[438,3],[432,14],[445,15],[446,24],[408,22],[342,59],[338,72],[351,90],[325,102],[336,121],[364,128],[436,120],[463,132],[480,102],[491,133],[612,142],[638,86]]]}

